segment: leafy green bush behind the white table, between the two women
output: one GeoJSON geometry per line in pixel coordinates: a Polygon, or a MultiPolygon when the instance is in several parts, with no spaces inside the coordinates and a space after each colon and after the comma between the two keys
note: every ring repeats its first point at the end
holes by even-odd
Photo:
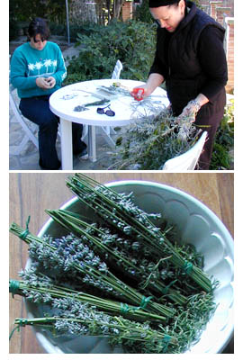
{"type": "Polygon", "coordinates": [[[145,80],[154,56],[155,30],[153,25],[130,21],[95,27],[89,36],[78,33],[80,53],[67,67],[64,85],[94,78],[110,78],[118,59],[123,65],[121,77],[145,80]]]}

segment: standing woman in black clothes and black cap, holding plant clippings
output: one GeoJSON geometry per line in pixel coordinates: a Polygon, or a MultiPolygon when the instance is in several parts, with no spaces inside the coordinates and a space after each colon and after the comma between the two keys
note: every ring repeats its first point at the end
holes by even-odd
{"type": "Polygon", "coordinates": [[[225,30],[191,1],[149,0],[148,5],[158,25],[157,50],[141,97],[166,81],[174,115],[188,115],[208,132],[199,159],[199,168],[208,169],[226,103],[225,30]]]}

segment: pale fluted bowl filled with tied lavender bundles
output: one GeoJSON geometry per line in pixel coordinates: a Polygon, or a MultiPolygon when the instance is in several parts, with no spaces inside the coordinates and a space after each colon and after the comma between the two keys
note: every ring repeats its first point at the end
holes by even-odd
{"type": "Polygon", "coordinates": [[[76,197],[47,211],[52,219],[37,237],[45,246],[30,246],[25,270],[39,254],[47,276],[41,286],[56,292],[51,306],[48,297],[37,299],[34,288],[26,290],[31,270],[21,284],[23,295],[37,299],[26,302],[28,318],[46,318],[31,323],[46,351],[220,353],[233,331],[234,272],[232,238],[218,217],[163,184],[122,181],[104,187],[77,174],[67,186],[76,197]],[[53,266],[58,254],[68,257],[63,272],[53,266]],[[66,322],[59,319],[63,314],[66,322]]]}

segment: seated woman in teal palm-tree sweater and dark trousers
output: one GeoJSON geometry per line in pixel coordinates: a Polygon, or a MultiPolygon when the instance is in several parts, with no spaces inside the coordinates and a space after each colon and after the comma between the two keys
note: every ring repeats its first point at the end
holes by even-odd
{"type": "MultiPolygon", "coordinates": [[[[58,45],[48,41],[49,28],[43,19],[31,21],[28,35],[29,40],[14,50],[11,83],[21,98],[23,116],[39,125],[40,167],[58,170],[61,165],[56,149],[59,119],[49,110],[49,96],[60,88],[67,69],[58,45]]],[[[84,156],[83,125],[73,123],[72,128],[74,154],[84,156]]]]}

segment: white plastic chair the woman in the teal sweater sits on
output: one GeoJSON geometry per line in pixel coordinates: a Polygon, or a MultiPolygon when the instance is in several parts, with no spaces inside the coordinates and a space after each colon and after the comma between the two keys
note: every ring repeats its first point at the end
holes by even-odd
{"type": "Polygon", "coordinates": [[[23,139],[21,140],[20,144],[11,148],[11,155],[20,155],[20,153],[23,151],[26,144],[30,140],[37,149],[39,148],[38,139],[37,139],[37,136],[35,135],[36,130],[38,130],[38,126],[23,116],[22,112],[19,110],[18,98],[14,94],[14,90],[15,90],[14,86],[10,84],[10,86],[9,86],[9,103],[10,103],[11,109],[14,112],[14,117],[11,117],[10,120],[12,122],[18,122],[21,125],[21,127],[24,131],[24,136],[23,136],[23,139]]]}

